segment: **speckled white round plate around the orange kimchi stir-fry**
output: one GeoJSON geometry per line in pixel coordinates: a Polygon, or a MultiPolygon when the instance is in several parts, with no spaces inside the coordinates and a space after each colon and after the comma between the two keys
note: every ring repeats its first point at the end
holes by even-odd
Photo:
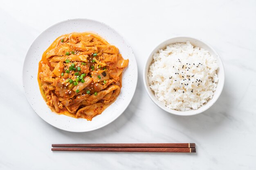
{"type": "Polygon", "coordinates": [[[34,111],[47,123],[58,129],[72,132],[87,132],[99,129],[118,118],[128,107],[134,95],[138,78],[137,63],[132,49],[124,38],[106,24],[88,19],[72,19],[54,24],[41,33],[30,46],[23,65],[23,86],[25,94],[34,111]],[[122,88],[117,100],[101,115],[87,121],[65,115],[58,115],[49,109],[40,94],[37,73],[38,62],[43,52],[59,36],[72,32],[93,32],[106,39],[108,43],[119,48],[124,59],[129,59],[128,68],[123,72],[122,88]]]}

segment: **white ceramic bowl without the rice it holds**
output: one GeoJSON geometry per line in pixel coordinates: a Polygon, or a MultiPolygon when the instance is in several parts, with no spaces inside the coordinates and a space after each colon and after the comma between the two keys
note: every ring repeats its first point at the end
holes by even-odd
{"type": "Polygon", "coordinates": [[[146,88],[146,91],[148,93],[148,96],[151,98],[151,100],[153,100],[153,102],[155,102],[155,104],[160,107],[161,109],[169,112],[169,113],[173,113],[175,115],[181,115],[181,116],[190,116],[190,115],[195,115],[198,113],[202,113],[203,111],[206,111],[207,109],[209,109],[215,102],[216,100],[219,98],[223,86],[224,86],[224,81],[225,81],[225,72],[224,72],[224,67],[223,67],[223,63],[220,59],[220,56],[218,55],[218,53],[211,47],[209,46],[207,43],[203,42],[201,39],[195,39],[192,37],[173,37],[171,39],[168,39],[162,43],[160,43],[149,55],[148,60],[146,62],[146,65],[144,67],[144,71],[143,71],[143,80],[144,80],[144,85],[146,88]],[[217,71],[218,74],[218,85],[216,88],[216,91],[214,92],[213,98],[211,100],[209,100],[207,103],[205,103],[202,107],[200,107],[199,109],[196,110],[190,110],[190,111],[177,111],[174,109],[169,109],[168,107],[166,107],[164,105],[164,103],[160,102],[159,100],[157,100],[157,98],[155,97],[154,92],[150,89],[149,84],[148,84],[148,70],[149,70],[149,66],[153,61],[153,54],[155,52],[157,52],[159,49],[164,49],[166,48],[167,45],[169,44],[173,44],[173,43],[177,43],[177,42],[186,42],[186,41],[190,41],[190,43],[193,46],[197,46],[200,48],[204,48],[205,50],[208,50],[210,52],[210,54],[213,55],[213,57],[216,58],[217,63],[219,65],[219,69],[217,71]]]}

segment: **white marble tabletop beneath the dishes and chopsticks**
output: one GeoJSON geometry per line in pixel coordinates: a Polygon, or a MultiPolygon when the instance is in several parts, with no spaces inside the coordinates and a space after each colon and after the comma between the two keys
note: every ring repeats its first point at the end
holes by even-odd
{"type": "Polygon", "coordinates": [[[0,1],[0,169],[256,169],[256,1],[0,1]],[[114,122],[71,133],[44,122],[22,87],[22,65],[36,36],[85,17],[110,25],[134,50],[139,69],[130,106],[114,122]],[[181,117],[147,96],[142,68],[159,41],[189,35],[222,57],[225,87],[213,107],[181,117]],[[196,154],[52,152],[52,143],[195,142],[196,154]]]}

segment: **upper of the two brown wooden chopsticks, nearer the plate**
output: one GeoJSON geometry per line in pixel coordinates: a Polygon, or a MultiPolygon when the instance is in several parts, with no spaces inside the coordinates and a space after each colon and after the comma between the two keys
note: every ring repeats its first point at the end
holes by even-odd
{"type": "Polygon", "coordinates": [[[95,147],[95,148],[195,148],[195,143],[159,144],[52,144],[52,147],[95,147]]]}

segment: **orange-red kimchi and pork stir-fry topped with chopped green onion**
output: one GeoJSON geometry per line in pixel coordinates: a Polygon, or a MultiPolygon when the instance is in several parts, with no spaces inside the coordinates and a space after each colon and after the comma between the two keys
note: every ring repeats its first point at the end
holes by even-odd
{"type": "Polygon", "coordinates": [[[127,66],[118,48],[98,35],[71,33],[43,53],[38,83],[54,112],[92,120],[119,95],[127,66]]]}

